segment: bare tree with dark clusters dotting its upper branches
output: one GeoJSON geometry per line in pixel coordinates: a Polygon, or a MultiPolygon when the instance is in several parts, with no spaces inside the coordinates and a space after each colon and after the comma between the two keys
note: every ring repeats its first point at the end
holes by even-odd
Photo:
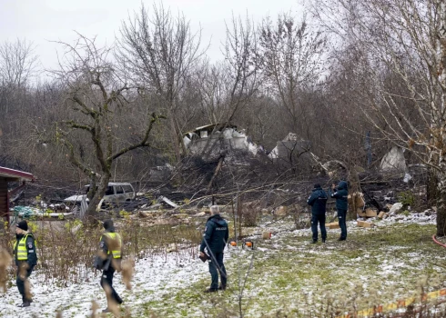
{"type": "Polygon", "coordinates": [[[320,31],[311,31],[305,19],[298,23],[289,14],[279,15],[275,23],[264,19],[259,33],[258,55],[265,89],[274,94],[286,111],[292,132],[303,137],[311,113],[309,104],[301,97],[319,80],[325,37],[320,31]]]}

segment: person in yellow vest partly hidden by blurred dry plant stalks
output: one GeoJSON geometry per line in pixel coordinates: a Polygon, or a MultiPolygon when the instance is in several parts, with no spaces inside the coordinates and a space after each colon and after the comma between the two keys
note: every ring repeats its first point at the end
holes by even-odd
{"type": "MultiPolygon", "coordinates": [[[[123,303],[123,300],[119,297],[115,288],[113,288],[113,274],[120,270],[122,239],[121,236],[115,232],[115,226],[112,220],[106,220],[103,225],[106,232],[101,235],[99,243],[100,251],[96,258],[95,267],[103,271],[101,276],[101,286],[106,292],[106,286],[109,287],[109,300],[111,299],[117,304],[121,304],[123,303]]],[[[108,306],[102,312],[109,313],[110,310],[108,306]]]]}

